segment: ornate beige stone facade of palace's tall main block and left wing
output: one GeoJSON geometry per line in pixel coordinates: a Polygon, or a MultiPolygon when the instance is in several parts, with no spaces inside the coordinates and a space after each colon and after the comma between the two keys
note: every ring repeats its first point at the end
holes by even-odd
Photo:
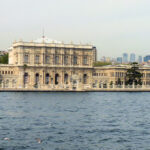
{"type": "Polygon", "coordinates": [[[0,68],[2,88],[82,89],[91,84],[94,46],[41,40],[13,43],[9,65],[0,68]],[[15,76],[8,73],[11,68],[15,76]]]}

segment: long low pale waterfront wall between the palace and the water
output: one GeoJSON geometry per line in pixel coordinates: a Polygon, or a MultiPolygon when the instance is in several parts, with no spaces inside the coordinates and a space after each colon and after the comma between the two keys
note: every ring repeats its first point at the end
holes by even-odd
{"type": "Polygon", "coordinates": [[[0,88],[0,92],[4,91],[23,91],[23,92],[150,92],[150,86],[146,85],[110,85],[108,87],[94,87],[85,85],[82,88],[75,86],[53,86],[51,88],[0,88]]]}

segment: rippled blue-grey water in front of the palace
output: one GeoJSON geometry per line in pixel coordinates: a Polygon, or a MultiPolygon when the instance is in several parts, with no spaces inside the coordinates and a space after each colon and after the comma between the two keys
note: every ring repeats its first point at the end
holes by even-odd
{"type": "Polygon", "coordinates": [[[0,150],[22,149],[148,150],[150,93],[0,93],[0,150]]]}

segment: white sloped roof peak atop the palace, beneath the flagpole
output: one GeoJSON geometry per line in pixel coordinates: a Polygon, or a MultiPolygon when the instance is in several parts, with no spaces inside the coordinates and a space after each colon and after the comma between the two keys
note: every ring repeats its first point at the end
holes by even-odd
{"type": "Polygon", "coordinates": [[[55,44],[61,44],[62,42],[57,41],[57,40],[53,40],[53,39],[49,39],[47,37],[42,37],[39,38],[37,40],[34,40],[35,43],[55,43],[55,44]]]}

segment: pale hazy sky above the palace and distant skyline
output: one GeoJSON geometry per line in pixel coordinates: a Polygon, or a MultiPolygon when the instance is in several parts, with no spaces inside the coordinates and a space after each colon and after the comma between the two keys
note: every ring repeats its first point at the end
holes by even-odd
{"type": "Polygon", "coordinates": [[[98,55],[150,53],[150,0],[0,0],[0,49],[41,37],[92,43],[98,55]]]}

